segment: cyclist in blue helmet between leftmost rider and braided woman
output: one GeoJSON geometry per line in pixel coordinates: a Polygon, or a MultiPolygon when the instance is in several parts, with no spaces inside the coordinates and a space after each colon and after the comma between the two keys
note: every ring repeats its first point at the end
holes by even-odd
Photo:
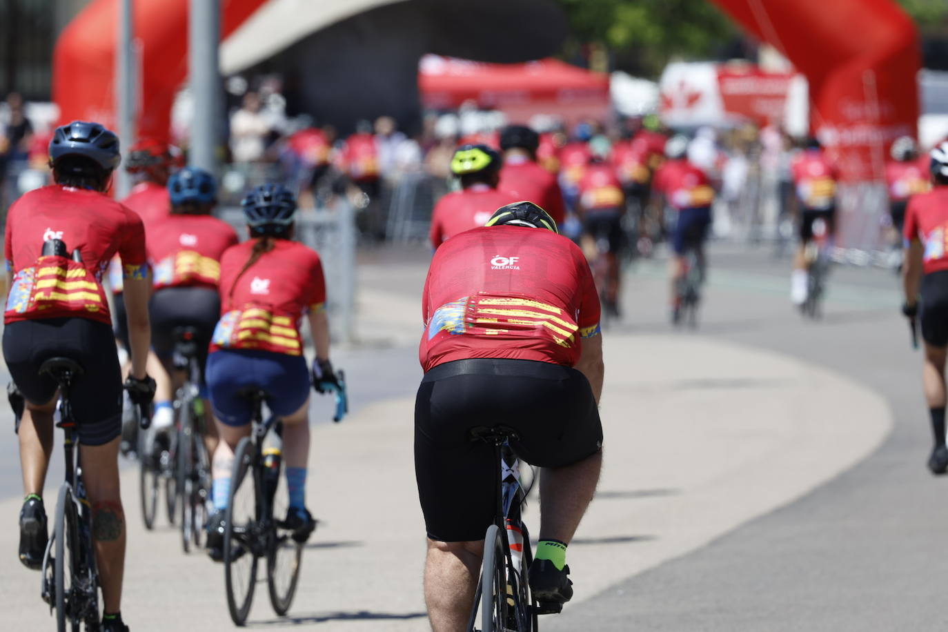
{"type": "MultiPolygon", "coordinates": [[[[214,176],[186,167],[168,181],[172,214],[148,228],[148,256],[154,269],[155,294],[149,311],[152,348],[161,360],[161,378],[155,392],[154,428],[150,437],[163,434],[174,423],[173,385],[169,376],[175,327],[197,330],[198,364],[202,375],[208,357],[210,334],[221,311],[217,283],[224,251],[238,243],[227,222],[211,217],[217,202],[214,176]]],[[[180,382],[183,376],[177,376],[180,382]]]]}

